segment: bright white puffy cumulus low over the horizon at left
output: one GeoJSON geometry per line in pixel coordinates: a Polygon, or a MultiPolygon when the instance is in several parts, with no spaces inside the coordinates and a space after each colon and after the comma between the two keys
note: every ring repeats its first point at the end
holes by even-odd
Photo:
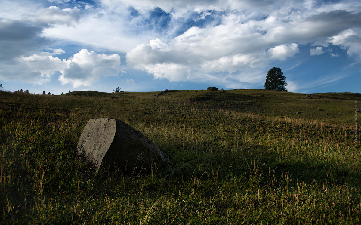
{"type": "Polygon", "coordinates": [[[101,77],[117,76],[121,70],[119,55],[103,55],[94,51],[82,49],[69,59],[59,59],[55,55],[63,53],[62,49],[53,52],[40,52],[30,56],[19,57],[16,71],[10,74],[14,78],[21,78],[23,82],[37,85],[44,84],[56,74],[60,73],[58,80],[62,84],[70,83],[73,87],[90,86],[101,77]],[[26,74],[21,77],[19,73],[26,74]]]}

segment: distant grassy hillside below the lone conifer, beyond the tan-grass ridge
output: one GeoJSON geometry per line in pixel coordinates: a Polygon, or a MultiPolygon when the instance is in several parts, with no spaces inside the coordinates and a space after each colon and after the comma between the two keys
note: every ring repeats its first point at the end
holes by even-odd
{"type": "Polygon", "coordinates": [[[161,92],[118,92],[75,91],[65,95],[87,97],[119,98],[172,98],[180,101],[196,102],[209,107],[235,112],[255,114],[266,118],[293,118],[313,122],[352,122],[350,112],[354,103],[361,100],[358,93],[316,93],[299,94],[292,92],[248,89],[226,90],[226,93],[205,90],[161,92]],[[309,96],[309,97],[307,97],[309,96]],[[322,109],[322,111],[318,111],[322,109]],[[317,111],[317,112],[315,112],[317,111]],[[299,114],[295,114],[299,112],[299,114]]]}

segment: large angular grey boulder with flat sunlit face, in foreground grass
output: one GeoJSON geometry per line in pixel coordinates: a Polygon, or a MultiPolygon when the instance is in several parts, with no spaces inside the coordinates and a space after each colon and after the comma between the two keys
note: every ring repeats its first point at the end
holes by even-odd
{"type": "Polygon", "coordinates": [[[120,164],[127,170],[150,171],[153,165],[170,161],[160,148],[125,122],[113,118],[89,120],[81,134],[77,151],[96,170],[120,164]]]}

